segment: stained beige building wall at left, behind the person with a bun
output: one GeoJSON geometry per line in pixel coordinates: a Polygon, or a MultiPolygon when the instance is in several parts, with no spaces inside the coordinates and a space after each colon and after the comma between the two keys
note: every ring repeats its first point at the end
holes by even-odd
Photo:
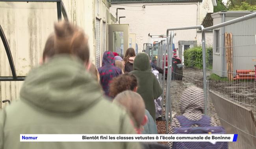
{"type": "MultiPolygon", "coordinates": [[[[106,0],[99,0],[102,21],[107,21],[106,0]],[[104,12],[104,15],[102,15],[104,12]]],[[[89,38],[90,59],[95,62],[95,0],[63,0],[70,22],[82,27],[89,38]]],[[[56,3],[0,2],[0,24],[4,30],[18,76],[26,76],[42,56],[46,39],[57,22],[56,3]]],[[[109,23],[113,23],[111,19],[109,23]]],[[[107,26],[107,25],[106,25],[107,26]]],[[[101,48],[102,49],[102,48],[101,48]]],[[[11,76],[6,51],[0,42],[0,76],[11,76]]],[[[0,101],[15,101],[22,82],[0,82],[0,101]]],[[[8,104],[0,104],[0,109],[8,104]]]]}

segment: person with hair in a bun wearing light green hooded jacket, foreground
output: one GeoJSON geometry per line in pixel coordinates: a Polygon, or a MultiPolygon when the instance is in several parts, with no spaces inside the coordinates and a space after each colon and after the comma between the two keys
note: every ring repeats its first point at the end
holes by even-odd
{"type": "Polygon", "coordinates": [[[83,32],[61,22],[49,40],[52,57],[30,71],[20,100],[0,111],[0,149],[140,149],[138,142],[20,142],[20,134],[135,134],[127,113],[104,99],[85,70],[83,32]]]}

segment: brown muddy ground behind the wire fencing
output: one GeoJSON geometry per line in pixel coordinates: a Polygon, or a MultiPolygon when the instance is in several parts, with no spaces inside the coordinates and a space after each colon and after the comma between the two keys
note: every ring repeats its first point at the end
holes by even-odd
{"type": "MultiPolygon", "coordinates": [[[[208,89],[218,93],[233,102],[236,102],[248,109],[252,110],[254,117],[256,116],[256,87],[254,80],[247,81],[223,81],[215,78],[210,78],[211,72],[208,72],[208,89]]],[[[165,80],[166,84],[167,80],[165,80]]],[[[202,70],[196,69],[183,69],[183,79],[182,81],[172,80],[171,81],[171,104],[172,111],[176,114],[180,114],[179,102],[180,96],[184,89],[191,86],[203,87],[203,73],[202,70]]],[[[166,90],[166,89],[165,89],[166,90]]],[[[165,101],[163,101],[165,104],[165,101]]],[[[163,113],[165,113],[165,108],[163,108],[163,113]]],[[[164,114],[163,114],[164,115],[164,114]]],[[[217,124],[219,119],[215,108],[208,96],[208,115],[215,118],[217,124]]],[[[165,122],[157,122],[158,132],[160,134],[165,133],[165,122]],[[163,126],[164,125],[164,126],[163,126]]]]}

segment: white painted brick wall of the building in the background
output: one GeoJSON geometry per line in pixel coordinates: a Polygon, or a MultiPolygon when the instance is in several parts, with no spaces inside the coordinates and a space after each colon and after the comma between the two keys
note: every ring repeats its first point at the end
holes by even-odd
{"type": "Polygon", "coordinates": [[[165,35],[167,28],[193,26],[197,25],[198,21],[201,24],[206,13],[213,12],[211,0],[203,0],[199,7],[197,2],[112,4],[110,12],[113,15],[117,7],[125,8],[118,10],[118,17],[126,16],[120,23],[129,24],[130,33],[136,34],[139,52],[142,51],[143,44],[148,42],[148,33],[165,35]],[[142,8],[142,5],[146,5],[145,8],[142,8]]]}

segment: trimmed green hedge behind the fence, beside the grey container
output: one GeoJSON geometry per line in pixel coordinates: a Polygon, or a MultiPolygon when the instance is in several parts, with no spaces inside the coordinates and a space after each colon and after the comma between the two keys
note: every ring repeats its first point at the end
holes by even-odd
{"type": "MultiPolygon", "coordinates": [[[[202,47],[192,47],[184,51],[184,65],[193,69],[203,68],[202,47]]],[[[212,68],[212,47],[206,48],[206,65],[212,68]]]]}

